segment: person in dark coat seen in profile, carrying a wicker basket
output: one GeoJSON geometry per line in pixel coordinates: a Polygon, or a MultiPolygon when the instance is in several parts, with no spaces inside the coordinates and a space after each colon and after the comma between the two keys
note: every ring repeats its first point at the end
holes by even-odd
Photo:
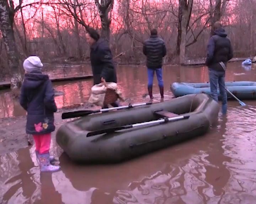
{"type": "MultiPolygon", "coordinates": [[[[88,28],[86,31],[86,41],[91,48],[90,60],[94,85],[100,84],[101,82],[105,84],[106,82],[117,83],[116,69],[107,41],[100,38],[98,32],[93,28],[88,28]]],[[[111,106],[118,107],[117,101],[111,103],[111,106]]]]}

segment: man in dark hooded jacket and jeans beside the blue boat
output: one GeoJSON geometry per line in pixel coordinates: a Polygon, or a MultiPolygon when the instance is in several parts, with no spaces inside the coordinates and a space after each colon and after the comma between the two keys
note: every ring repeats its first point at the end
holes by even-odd
{"type": "Polygon", "coordinates": [[[207,46],[206,65],[209,68],[210,91],[212,98],[218,102],[217,86],[222,97],[222,113],[227,111],[227,95],[225,90],[225,71],[227,62],[233,57],[233,48],[220,22],[213,25],[214,35],[207,46]]]}

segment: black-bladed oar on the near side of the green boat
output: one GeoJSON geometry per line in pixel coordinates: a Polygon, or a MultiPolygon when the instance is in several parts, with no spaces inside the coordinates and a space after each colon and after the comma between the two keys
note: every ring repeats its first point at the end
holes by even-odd
{"type": "Polygon", "coordinates": [[[149,121],[149,122],[144,122],[144,123],[136,123],[133,125],[124,125],[124,126],[119,126],[119,127],[114,127],[114,128],[108,128],[108,129],[103,129],[103,130],[96,130],[89,132],[87,134],[87,137],[91,137],[94,135],[100,135],[103,133],[109,133],[109,132],[114,132],[117,130],[124,130],[124,129],[130,129],[130,128],[136,128],[136,127],[141,127],[141,126],[146,126],[146,125],[156,125],[156,124],[162,124],[162,123],[168,123],[172,121],[177,121],[177,120],[182,120],[182,119],[188,119],[190,116],[178,116],[178,117],[173,117],[173,118],[164,118],[160,120],[154,120],[154,121],[149,121]]]}

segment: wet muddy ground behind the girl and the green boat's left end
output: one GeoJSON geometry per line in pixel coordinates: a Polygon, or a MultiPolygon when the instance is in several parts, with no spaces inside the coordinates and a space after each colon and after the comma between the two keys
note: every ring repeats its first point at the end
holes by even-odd
{"type": "MultiPolygon", "coordinates": [[[[62,120],[61,115],[66,111],[74,111],[78,109],[100,109],[99,106],[90,106],[89,104],[73,105],[58,109],[54,114],[55,131],[52,132],[52,137],[55,137],[58,128],[65,122],[73,119],[62,120]]],[[[25,148],[33,143],[31,135],[26,134],[26,116],[0,118],[0,155],[8,152],[16,151],[20,148],[25,148]]]]}

